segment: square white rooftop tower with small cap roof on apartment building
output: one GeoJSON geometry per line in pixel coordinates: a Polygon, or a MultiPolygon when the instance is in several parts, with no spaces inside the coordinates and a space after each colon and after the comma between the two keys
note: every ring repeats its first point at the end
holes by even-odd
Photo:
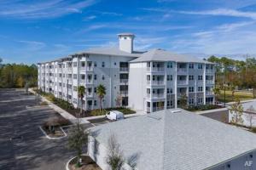
{"type": "Polygon", "coordinates": [[[120,33],[119,36],[119,50],[125,51],[127,53],[132,53],[133,51],[133,39],[135,37],[132,33],[120,33]]]}

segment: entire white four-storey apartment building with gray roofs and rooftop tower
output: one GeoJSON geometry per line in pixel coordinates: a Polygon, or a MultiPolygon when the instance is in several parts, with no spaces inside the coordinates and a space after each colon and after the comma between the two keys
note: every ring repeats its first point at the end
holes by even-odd
{"type": "Polygon", "coordinates": [[[107,89],[104,108],[122,105],[137,111],[159,111],[177,107],[181,94],[188,96],[189,105],[214,102],[211,63],[162,49],[135,51],[133,34],[118,36],[119,48],[94,48],[38,63],[38,88],[80,107],[77,90],[83,85],[84,110],[100,107],[99,84],[107,89]]]}

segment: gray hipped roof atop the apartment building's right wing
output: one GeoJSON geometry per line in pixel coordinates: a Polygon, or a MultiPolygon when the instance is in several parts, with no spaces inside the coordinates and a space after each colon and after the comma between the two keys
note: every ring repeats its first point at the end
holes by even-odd
{"type": "Polygon", "coordinates": [[[143,53],[140,58],[131,60],[131,63],[144,62],[144,61],[176,61],[176,62],[210,63],[203,59],[197,59],[195,57],[184,55],[184,54],[175,54],[160,48],[151,49],[148,52],[143,53]]]}

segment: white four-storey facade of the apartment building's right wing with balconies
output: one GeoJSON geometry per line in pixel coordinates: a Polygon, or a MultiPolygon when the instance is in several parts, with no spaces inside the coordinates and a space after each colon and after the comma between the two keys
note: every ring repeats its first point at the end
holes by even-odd
{"type": "Polygon", "coordinates": [[[148,61],[131,63],[130,67],[129,106],[137,111],[179,107],[183,95],[187,96],[188,105],[214,103],[213,65],[148,61]]]}

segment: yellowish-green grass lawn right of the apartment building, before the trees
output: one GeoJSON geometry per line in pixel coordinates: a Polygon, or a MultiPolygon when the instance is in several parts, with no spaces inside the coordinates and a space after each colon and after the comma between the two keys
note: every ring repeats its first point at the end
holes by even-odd
{"type": "MultiPolygon", "coordinates": [[[[247,100],[247,99],[253,99],[253,93],[250,92],[235,92],[234,94],[235,98],[238,97],[240,100],[247,100]]],[[[221,94],[218,97],[218,101],[224,102],[224,91],[221,90],[221,94]]],[[[227,91],[226,90],[226,103],[234,101],[232,99],[232,91],[227,91]]]]}

